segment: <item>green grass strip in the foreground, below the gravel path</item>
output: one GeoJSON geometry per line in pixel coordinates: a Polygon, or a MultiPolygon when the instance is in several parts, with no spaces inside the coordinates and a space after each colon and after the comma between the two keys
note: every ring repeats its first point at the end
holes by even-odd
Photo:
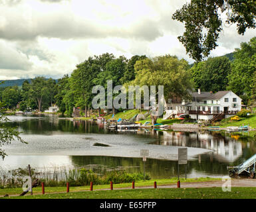
{"type": "Polygon", "coordinates": [[[25,195],[5,197],[22,199],[255,199],[256,187],[232,187],[223,192],[221,187],[204,188],[163,188],[163,189],[122,189],[113,191],[81,191],[52,193],[46,195],[25,195]]]}

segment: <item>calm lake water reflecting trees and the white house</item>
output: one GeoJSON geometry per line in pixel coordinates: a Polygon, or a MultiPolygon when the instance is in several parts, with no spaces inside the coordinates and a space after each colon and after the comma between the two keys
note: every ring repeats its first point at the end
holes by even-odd
{"type": "MultiPolygon", "coordinates": [[[[94,172],[125,169],[143,172],[141,149],[148,149],[146,172],[152,178],[172,178],[178,172],[178,148],[188,147],[188,178],[220,177],[227,166],[236,166],[256,153],[247,134],[219,132],[166,132],[140,130],[109,132],[102,123],[70,121],[54,115],[9,116],[28,142],[3,146],[8,154],[0,160],[5,169],[86,167],[94,172]],[[108,146],[94,146],[95,143],[108,146]]],[[[185,165],[180,166],[182,176],[185,165]]]]}

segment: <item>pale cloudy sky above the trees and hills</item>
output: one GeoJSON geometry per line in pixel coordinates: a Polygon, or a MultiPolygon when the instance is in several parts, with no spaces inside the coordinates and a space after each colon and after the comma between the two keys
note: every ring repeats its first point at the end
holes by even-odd
{"type": "MultiPolygon", "coordinates": [[[[189,0],[0,0],[0,79],[60,78],[88,56],[113,53],[172,54],[192,59],[177,36],[184,26],[172,13],[189,0]]],[[[248,42],[256,30],[239,36],[224,26],[221,56],[248,42]]]]}

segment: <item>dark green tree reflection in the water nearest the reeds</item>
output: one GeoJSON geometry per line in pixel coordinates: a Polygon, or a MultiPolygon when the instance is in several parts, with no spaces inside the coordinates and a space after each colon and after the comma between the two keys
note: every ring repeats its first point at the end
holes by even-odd
{"type": "MultiPolygon", "coordinates": [[[[74,166],[86,166],[94,172],[104,173],[113,168],[124,167],[129,173],[143,172],[144,162],[142,158],[120,158],[110,156],[70,156],[74,166]],[[93,164],[93,166],[88,166],[93,164]],[[98,166],[96,166],[98,165],[98,166]],[[102,166],[103,165],[103,166],[102,166]]],[[[220,164],[215,158],[211,160],[211,154],[202,154],[201,162],[193,160],[188,162],[188,174],[201,172],[202,174],[225,175],[227,164],[220,164]]],[[[178,162],[170,160],[157,160],[147,158],[146,172],[151,178],[173,178],[178,176],[178,162]]],[[[180,173],[185,173],[185,166],[180,166],[180,173]]]]}

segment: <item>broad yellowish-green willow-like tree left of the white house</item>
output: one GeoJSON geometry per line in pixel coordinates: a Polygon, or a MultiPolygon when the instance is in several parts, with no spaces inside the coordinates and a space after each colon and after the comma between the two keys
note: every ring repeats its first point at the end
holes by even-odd
{"type": "Polygon", "coordinates": [[[134,66],[135,79],[127,85],[156,85],[156,87],[164,85],[165,98],[190,99],[188,91],[192,89],[192,81],[188,68],[186,60],[178,60],[176,56],[170,55],[159,56],[152,60],[149,58],[138,60],[134,66]]]}

